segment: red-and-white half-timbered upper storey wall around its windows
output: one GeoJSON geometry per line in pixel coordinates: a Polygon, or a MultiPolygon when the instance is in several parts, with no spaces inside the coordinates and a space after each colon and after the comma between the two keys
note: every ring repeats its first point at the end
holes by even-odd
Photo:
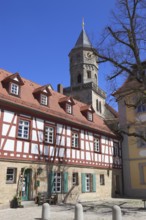
{"type": "Polygon", "coordinates": [[[1,111],[0,156],[3,159],[21,161],[40,161],[65,163],[76,166],[92,166],[97,168],[121,168],[121,160],[114,163],[114,139],[95,131],[87,131],[69,124],[61,124],[38,117],[1,111]],[[18,138],[19,120],[29,121],[29,138],[18,138]],[[8,122],[9,121],[9,122],[8,122]],[[50,126],[54,130],[53,143],[45,143],[44,129],[50,126]],[[72,146],[72,132],[78,133],[79,146],[72,146]],[[100,139],[100,152],[94,151],[94,137],[100,139]]]}

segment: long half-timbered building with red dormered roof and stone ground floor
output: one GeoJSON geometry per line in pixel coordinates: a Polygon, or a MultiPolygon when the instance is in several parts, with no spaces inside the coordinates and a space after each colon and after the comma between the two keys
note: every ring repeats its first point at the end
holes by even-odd
{"type": "Polygon", "coordinates": [[[0,203],[122,193],[121,147],[92,105],[0,69],[0,203]]]}

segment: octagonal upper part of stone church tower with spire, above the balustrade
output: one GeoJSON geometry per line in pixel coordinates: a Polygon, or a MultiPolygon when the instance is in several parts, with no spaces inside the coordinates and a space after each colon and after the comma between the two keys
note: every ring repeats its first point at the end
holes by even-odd
{"type": "Polygon", "coordinates": [[[93,49],[84,26],[74,48],[69,53],[69,58],[71,87],[85,83],[97,85],[97,52],[93,49]]]}

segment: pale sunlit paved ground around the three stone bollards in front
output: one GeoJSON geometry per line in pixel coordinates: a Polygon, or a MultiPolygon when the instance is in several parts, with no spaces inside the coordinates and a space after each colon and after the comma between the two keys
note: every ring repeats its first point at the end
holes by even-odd
{"type": "MultiPolygon", "coordinates": [[[[110,199],[96,202],[82,203],[84,220],[112,220],[112,207],[119,205],[122,211],[122,220],[144,220],[146,209],[141,200],[110,199]]],[[[73,220],[74,205],[51,205],[51,220],[73,220]]],[[[41,220],[42,206],[27,205],[24,208],[10,209],[0,206],[0,220],[41,220]]]]}

